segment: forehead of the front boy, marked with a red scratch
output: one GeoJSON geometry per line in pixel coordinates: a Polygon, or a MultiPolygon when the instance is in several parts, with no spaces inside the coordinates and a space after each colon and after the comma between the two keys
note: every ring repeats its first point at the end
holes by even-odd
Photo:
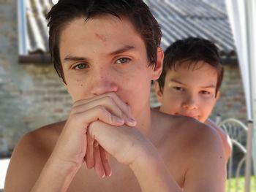
{"type": "Polygon", "coordinates": [[[146,51],[143,39],[132,23],[127,18],[113,15],[72,20],[61,33],[59,47],[61,58],[74,53],[83,55],[91,50],[110,54],[123,48],[127,50],[127,47],[134,47],[133,50],[143,47],[146,51]]]}

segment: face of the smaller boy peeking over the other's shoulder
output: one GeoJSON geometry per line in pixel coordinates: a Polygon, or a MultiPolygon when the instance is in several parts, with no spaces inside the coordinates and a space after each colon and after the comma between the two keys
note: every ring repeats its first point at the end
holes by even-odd
{"type": "Polygon", "coordinates": [[[186,61],[169,70],[165,77],[163,93],[156,85],[161,102],[160,111],[171,115],[190,116],[205,122],[219,97],[216,96],[217,71],[211,65],[199,61],[186,61]]]}

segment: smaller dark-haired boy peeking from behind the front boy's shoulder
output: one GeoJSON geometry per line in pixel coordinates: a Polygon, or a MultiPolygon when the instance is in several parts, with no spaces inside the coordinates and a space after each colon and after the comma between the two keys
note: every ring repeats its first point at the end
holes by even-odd
{"type": "Polygon", "coordinates": [[[155,92],[161,112],[189,116],[215,128],[222,139],[227,161],[231,152],[230,138],[208,119],[219,99],[222,78],[223,67],[214,43],[189,37],[165,50],[163,71],[155,82],[155,92]]]}

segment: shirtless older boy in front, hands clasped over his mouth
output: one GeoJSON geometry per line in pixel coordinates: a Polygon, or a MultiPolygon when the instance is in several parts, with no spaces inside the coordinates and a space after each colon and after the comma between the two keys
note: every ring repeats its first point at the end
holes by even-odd
{"type": "Polygon", "coordinates": [[[60,0],[48,19],[50,53],[73,106],[66,121],[20,140],[6,192],[225,191],[217,132],[150,109],[163,52],[142,0],[60,0]]]}

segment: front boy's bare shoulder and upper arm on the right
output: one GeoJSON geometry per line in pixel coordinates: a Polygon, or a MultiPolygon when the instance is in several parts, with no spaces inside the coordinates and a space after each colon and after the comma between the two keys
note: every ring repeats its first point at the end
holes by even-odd
{"type": "Polygon", "coordinates": [[[183,131],[189,145],[184,191],[225,191],[226,159],[217,130],[191,120],[183,131]]]}

